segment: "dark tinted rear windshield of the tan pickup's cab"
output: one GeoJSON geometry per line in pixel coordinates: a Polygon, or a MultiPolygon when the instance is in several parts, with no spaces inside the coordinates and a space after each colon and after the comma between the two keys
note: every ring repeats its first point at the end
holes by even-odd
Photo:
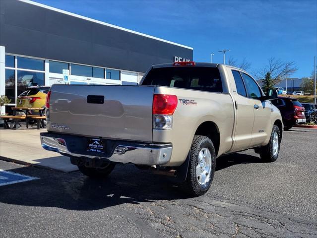
{"type": "Polygon", "coordinates": [[[180,66],[153,68],[146,75],[142,85],[223,92],[219,70],[213,67],[180,66]]]}

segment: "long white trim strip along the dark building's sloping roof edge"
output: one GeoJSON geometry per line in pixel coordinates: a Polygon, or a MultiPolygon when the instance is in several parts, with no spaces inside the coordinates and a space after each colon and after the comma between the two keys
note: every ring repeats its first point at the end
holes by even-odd
{"type": "Polygon", "coordinates": [[[75,14],[75,13],[72,13],[72,12],[69,12],[69,11],[64,11],[64,10],[61,10],[61,9],[58,9],[58,8],[55,8],[55,7],[52,7],[52,6],[48,6],[48,5],[45,5],[45,4],[42,4],[42,3],[38,3],[38,2],[35,2],[35,1],[31,1],[31,0],[19,0],[19,1],[26,2],[26,3],[32,4],[32,5],[36,5],[36,6],[40,6],[40,7],[44,7],[46,9],[50,9],[50,10],[53,10],[53,11],[58,11],[58,12],[61,12],[63,14],[66,14],[66,15],[78,17],[78,18],[81,18],[81,19],[84,19],[84,20],[87,20],[87,21],[91,21],[91,22],[94,22],[94,23],[101,24],[101,25],[105,25],[105,26],[113,27],[113,28],[116,28],[116,29],[119,29],[119,30],[127,31],[127,32],[130,32],[130,33],[136,34],[136,35],[144,36],[144,37],[147,37],[147,38],[151,38],[151,39],[154,39],[154,40],[162,41],[162,42],[165,42],[165,43],[169,43],[169,44],[172,44],[172,45],[176,45],[176,46],[180,46],[180,47],[183,47],[183,48],[187,48],[187,49],[193,50],[193,48],[189,47],[189,46],[181,45],[181,44],[178,44],[178,43],[175,43],[175,42],[172,42],[172,41],[167,41],[167,40],[164,40],[164,39],[161,39],[161,38],[158,38],[158,37],[155,37],[155,36],[150,36],[150,35],[147,35],[147,34],[143,34],[143,33],[137,32],[137,31],[132,31],[132,30],[129,30],[129,29],[124,28],[124,27],[112,25],[112,24],[109,24],[109,23],[106,23],[106,22],[103,22],[103,21],[99,21],[99,20],[95,20],[95,19],[92,19],[92,18],[89,18],[89,17],[86,17],[86,16],[81,16],[81,15],[78,15],[78,14],[75,14]]]}

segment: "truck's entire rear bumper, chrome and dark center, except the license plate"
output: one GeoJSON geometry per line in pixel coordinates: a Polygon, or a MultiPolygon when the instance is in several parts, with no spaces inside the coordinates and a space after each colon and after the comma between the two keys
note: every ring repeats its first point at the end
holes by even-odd
{"type": "Polygon", "coordinates": [[[164,165],[170,162],[172,144],[146,144],[130,141],[109,140],[108,153],[85,151],[86,137],[42,132],[41,144],[46,150],[68,157],[103,159],[116,163],[136,165],[164,165]],[[70,149],[70,147],[73,147],[70,149]]]}

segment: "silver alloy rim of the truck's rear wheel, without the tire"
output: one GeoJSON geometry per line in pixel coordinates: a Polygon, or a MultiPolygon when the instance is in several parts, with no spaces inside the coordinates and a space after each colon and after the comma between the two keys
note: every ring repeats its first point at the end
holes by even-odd
{"type": "Polygon", "coordinates": [[[196,166],[196,177],[200,185],[210,180],[211,154],[207,148],[202,148],[198,154],[198,165],[196,166]]]}

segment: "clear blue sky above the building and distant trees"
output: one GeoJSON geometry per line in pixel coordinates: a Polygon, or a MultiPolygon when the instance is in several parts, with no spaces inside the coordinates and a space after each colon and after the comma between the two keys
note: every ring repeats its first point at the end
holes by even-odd
{"type": "Polygon", "coordinates": [[[194,48],[193,59],[251,62],[255,72],[267,59],[295,61],[292,77],[310,76],[317,56],[316,0],[36,0],[194,48]]]}

